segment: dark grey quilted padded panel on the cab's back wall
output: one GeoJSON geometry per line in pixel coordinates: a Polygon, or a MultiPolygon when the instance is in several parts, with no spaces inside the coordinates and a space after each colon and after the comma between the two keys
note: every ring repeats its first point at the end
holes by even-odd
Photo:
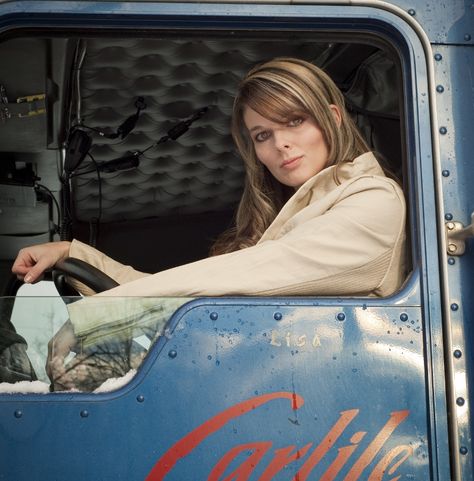
{"type": "MultiPolygon", "coordinates": [[[[308,42],[223,39],[88,39],[80,70],[76,115],[94,128],[117,127],[146,102],[125,140],[93,135],[97,162],[144,150],[175,123],[209,106],[204,117],[176,141],[141,157],[138,168],[101,174],[103,222],[233,210],[243,166],[232,145],[230,114],[236,86],[256,63],[276,56],[317,62],[327,45],[308,42]]],[[[86,165],[88,160],[84,161],[86,165]]],[[[97,217],[96,173],[76,177],[76,219],[97,217]]]]}

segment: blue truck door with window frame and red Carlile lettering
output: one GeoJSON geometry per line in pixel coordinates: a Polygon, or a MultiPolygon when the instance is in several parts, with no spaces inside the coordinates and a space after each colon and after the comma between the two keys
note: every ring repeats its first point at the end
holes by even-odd
{"type": "MultiPolygon", "coordinates": [[[[7,4],[4,13],[0,8],[4,25],[26,21],[24,3],[7,4]]],[[[443,303],[436,182],[446,184],[446,213],[466,222],[472,206],[450,204],[449,192],[462,188],[472,200],[469,149],[453,142],[450,122],[457,119],[457,129],[458,116],[472,120],[473,114],[461,98],[452,115],[446,111],[449,100],[443,104],[447,97],[438,97],[433,85],[436,49],[416,21],[377,4],[199,4],[189,10],[186,4],[153,2],[131,2],[125,15],[120,2],[82,2],[78,16],[74,2],[61,2],[55,16],[44,20],[49,3],[29,5],[28,21],[84,28],[91,22],[123,28],[140,21],[160,28],[206,23],[237,32],[242,25],[244,31],[289,32],[328,25],[353,31],[357,25],[388,39],[402,67],[412,269],[403,289],[385,299],[198,299],[175,313],[167,335],[118,391],[0,395],[0,479],[451,479],[443,318],[449,311],[453,353],[461,352],[453,354],[452,372],[466,372],[470,358],[463,339],[470,331],[461,314],[467,317],[471,301],[459,290],[450,295],[449,307],[443,303]],[[439,139],[442,172],[436,171],[433,147],[436,115],[439,135],[448,134],[439,139]],[[454,153],[463,156],[461,164],[454,153]],[[453,180],[461,177],[458,172],[464,183],[453,180]],[[467,364],[456,365],[459,360],[467,364]]],[[[468,48],[451,58],[441,46],[449,63],[436,64],[435,74],[472,59],[468,48]]],[[[446,91],[461,88],[461,79],[449,79],[446,91]]],[[[472,143],[464,125],[456,135],[472,143]]],[[[453,288],[469,285],[468,267],[472,256],[447,264],[453,288]]],[[[468,412],[466,389],[450,393],[461,414],[468,412]]],[[[465,415],[457,419],[460,469],[470,479],[470,421],[465,415]]]]}

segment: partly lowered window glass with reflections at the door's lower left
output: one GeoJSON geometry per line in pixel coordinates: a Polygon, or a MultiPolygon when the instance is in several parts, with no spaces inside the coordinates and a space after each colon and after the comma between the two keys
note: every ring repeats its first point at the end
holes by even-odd
{"type": "Polygon", "coordinates": [[[1,324],[0,392],[117,389],[135,375],[152,344],[166,334],[173,312],[186,302],[63,299],[50,295],[50,284],[25,286],[15,299],[0,300],[3,313],[13,303],[11,318],[1,324]]]}

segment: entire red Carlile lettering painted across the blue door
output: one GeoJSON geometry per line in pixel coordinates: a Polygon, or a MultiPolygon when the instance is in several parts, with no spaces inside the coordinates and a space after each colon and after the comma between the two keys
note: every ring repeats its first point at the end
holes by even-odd
{"type": "MultiPolygon", "coordinates": [[[[146,481],[163,480],[180,459],[187,456],[208,436],[218,431],[231,419],[242,416],[243,414],[258,408],[259,406],[271,400],[282,398],[290,400],[291,407],[293,409],[299,409],[304,403],[303,398],[296,393],[279,392],[257,396],[237,404],[236,406],[232,406],[209,419],[175,443],[158,460],[146,478],[146,481]]],[[[340,417],[337,422],[332,426],[330,431],[326,434],[316,449],[303,463],[299,471],[295,474],[293,481],[306,481],[308,479],[313,469],[333,448],[341,435],[346,431],[349,424],[358,414],[358,409],[352,409],[340,413],[340,417]]],[[[408,414],[409,411],[407,410],[391,413],[390,419],[363,451],[362,455],[352,465],[351,469],[346,474],[344,481],[361,481],[362,473],[375,459],[397,426],[408,417],[408,414]]],[[[366,434],[366,431],[357,431],[350,438],[351,444],[341,447],[337,450],[337,456],[332,460],[329,467],[319,478],[320,481],[334,481],[336,479],[366,434]]],[[[301,449],[298,449],[292,445],[275,450],[273,458],[264,471],[260,474],[258,481],[270,481],[273,479],[275,475],[289,463],[304,457],[309,452],[312,444],[313,443],[306,444],[301,449]]],[[[254,473],[256,466],[262,461],[263,457],[269,452],[271,447],[271,441],[257,441],[233,447],[226,454],[224,454],[220,461],[214,466],[207,481],[249,481],[250,476],[254,473]],[[231,473],[226,473],[226,470],[231,463],[244,451],[250,451],[248,457],[241,462],[239,466],[233,468],[234,470],[231,473]],[[223,476],[226,477],[223,478],[223,476]]],[[[388,475],[393,475],[399,466],[404,463],[412,454],[413,449],[410,446],[397,446],[386,453],[376,464],[372,472],[366,473],[364,478],[368,481],[382,481],[385,474],[388,473],[388,475]]],[[[399,479],[400,476],[396,476],[390,481],[398,481],[399,479]]]]}

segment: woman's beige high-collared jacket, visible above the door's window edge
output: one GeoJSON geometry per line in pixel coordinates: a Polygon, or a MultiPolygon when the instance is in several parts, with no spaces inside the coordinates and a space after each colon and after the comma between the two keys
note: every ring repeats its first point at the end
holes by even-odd
{"type": "Polygon", "coordinates": [[[121,284],[100,296],[387,296],[404,280],[404,246],[403,193],[366,153],[309,179],[253,247],[153,275],[78,241],[70,256],[121,284]]]}

